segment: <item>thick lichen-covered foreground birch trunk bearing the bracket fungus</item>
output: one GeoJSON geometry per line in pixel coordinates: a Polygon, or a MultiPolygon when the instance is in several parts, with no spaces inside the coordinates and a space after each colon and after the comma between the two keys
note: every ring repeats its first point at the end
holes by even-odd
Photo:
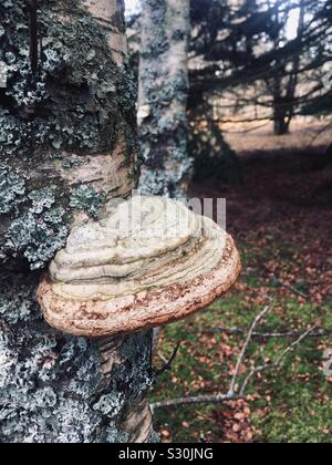
{"type": "Polygon", "coordinates": [[[151,333],[72,338],[35,301],[72,225],[137,183],[123,2],[0,0],[0,442],[151,441],[151,333]]]}

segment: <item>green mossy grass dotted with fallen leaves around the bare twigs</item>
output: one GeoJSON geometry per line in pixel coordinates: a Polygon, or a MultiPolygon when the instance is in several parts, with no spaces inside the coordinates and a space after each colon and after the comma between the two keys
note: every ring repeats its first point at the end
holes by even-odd
{"type": "MultiPolygon", "coordinates": [[[[228,297],[212,304],[198,316],[167,327],[164,330],[160,352],[167,358],[181,340],[179,354],[172,372],[164,373],[153,391],[152,401],[174,399],[184,395],[226,392],[229,389],[230,370],[243,344],[245,335],[226,337],[222,332],[201,334],[203,329],[237,327],[249,329],[255,316],[263,307],[259,296],[267,292],[272,299],[273,310],[261,322],[260,330],[304,331],[319,323],[332,328],[332,302],[325,300],[318,306],[303,301],[288,290],[270,285],[258,264],[278,260],[282,270],[294,266],[294,247],[274,241],[266,248],[255,250],[242,244],[245,273],[243,290],[232,291],[228,297]],[[273,244],[273,247],[271,247],[273,244]]],[[[301,290],[305,292],[305,280],[301,277],[301,290]]],[[[255,340],[246,358],[246,366],[261,363],[263,356],[276,358],[293,340],[255,340]],[[262,354],[263,353],[263,354],[262,354]]],[[[253,441],[271,443],[332,443],[331,383],[322,373],[322,353],[332,348],[331,337],[307,339],[290,353],[280,371],[267,371],[255,379],[249,386],[253,395],[250,402],[250,427],[253,441]]],[[[160,362],[162,363],[162,362],[160,362]]],[[[157,427],[164,440],[172,442],[219,442],[225,438],[222,414],[232,412],[234,405],[195,405],[176,409],[160,409],[156,412],[157,427]]],[[[230,413],[231,415],[231,413],[230,413]]]]}

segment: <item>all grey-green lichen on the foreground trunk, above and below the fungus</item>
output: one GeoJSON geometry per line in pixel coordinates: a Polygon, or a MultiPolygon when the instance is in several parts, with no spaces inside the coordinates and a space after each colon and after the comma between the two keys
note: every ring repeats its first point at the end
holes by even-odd
{"type": "MultiPolygon", "coordinates": [[[[0,61],[8,70],[0,89],[0,443],[128,441],[113,415],[121,409],[121,416],[133,389],[123,376],[105,390],[95,344],[50,329],[35,301],[40,273],[27,269],[45,267],[66,240],[74,207],[58,165],[111,157],[123,130],[128,164],[135,158],[132,74],[116,66],[110,30],[82,3],[38,2],[42,51],[32,74],[28,2],[0,0],[0,61]],[[95,410],[108,392],[112,402],[103,402],[115,410],[95,410]]],[[[89,190],[79,198],[96,213],[101,199],[92,202],[89,190]]]]}

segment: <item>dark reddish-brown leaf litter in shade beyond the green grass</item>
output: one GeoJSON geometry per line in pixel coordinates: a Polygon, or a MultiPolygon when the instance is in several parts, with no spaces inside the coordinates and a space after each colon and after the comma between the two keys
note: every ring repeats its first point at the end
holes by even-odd
{"type": "MultiPolygon", "coordinates": [[[[250,266],[262,271],[267,286],[276,279],[304,286],[318,304],[332,294],[332,165],[318,164],[323,154],[324,147],[284,149],[262,159],[251,154],[242,158],[243,184],[212,187],[207,180],[190,193],[227,199],[228,231],[252,247],[257,262],[250,266]]],[[[279,291],[294,296],[286,288],[279,291]]],[[[304,302],[300,296],[299,302],[304,302]]]]}

